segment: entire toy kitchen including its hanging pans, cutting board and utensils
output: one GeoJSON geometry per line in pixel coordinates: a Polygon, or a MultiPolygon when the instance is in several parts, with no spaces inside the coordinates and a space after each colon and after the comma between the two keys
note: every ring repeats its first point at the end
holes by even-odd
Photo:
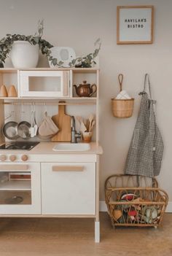
{"type": "Polygon", "coordinates": [[[0,82],[17,92],[0,98],[0,217],[92,217],[98,242],[99,70],[0,69],[0,82]]]}

